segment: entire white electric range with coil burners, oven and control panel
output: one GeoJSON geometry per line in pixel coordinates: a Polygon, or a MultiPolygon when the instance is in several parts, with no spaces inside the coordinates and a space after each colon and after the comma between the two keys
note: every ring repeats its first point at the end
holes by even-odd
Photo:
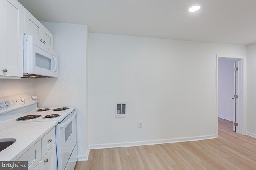
{"type": "Polygon", "coordinates": [[[0,123],[56,121],[58,170],[74,170],[78,159],[75,107],[37,107],[37,96],[30,94],[0,98],[0,123]]]}

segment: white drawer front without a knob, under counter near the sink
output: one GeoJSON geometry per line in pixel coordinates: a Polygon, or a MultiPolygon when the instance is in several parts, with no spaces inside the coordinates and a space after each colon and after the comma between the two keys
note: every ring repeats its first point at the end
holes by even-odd
{"type": "Polygon", "coordinates": [[[20,158],[17,160],[28,161],[28,170],[33,170],[37,164],[41,161],[41,140],[39,140],[35,145],[28,149],[20,158]]]}

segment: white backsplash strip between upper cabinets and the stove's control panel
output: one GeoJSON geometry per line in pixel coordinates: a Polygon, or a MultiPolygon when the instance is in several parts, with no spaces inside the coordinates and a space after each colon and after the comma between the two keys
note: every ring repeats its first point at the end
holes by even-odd
{"type": "Polygon", "coordinates": [[[33,79],[0,79],[0,98],[15,94],[33,94],[33,79]]]}

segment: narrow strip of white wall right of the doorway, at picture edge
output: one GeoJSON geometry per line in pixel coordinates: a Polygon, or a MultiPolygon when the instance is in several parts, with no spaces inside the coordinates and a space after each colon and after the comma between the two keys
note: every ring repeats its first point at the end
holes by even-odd
{"type": "Polygon", "coordinates": [[[256,137],[256,43],[247,46],[247,134],[256,137]]]}

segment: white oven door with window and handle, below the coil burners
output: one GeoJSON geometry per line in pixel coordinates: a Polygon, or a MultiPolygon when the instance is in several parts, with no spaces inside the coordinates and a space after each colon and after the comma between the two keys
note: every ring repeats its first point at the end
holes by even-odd
{"type": "Polygon", "coordinates": [[[64,170],[76,145],[76,110],[56,125],[58,170],[64,170]]]}

